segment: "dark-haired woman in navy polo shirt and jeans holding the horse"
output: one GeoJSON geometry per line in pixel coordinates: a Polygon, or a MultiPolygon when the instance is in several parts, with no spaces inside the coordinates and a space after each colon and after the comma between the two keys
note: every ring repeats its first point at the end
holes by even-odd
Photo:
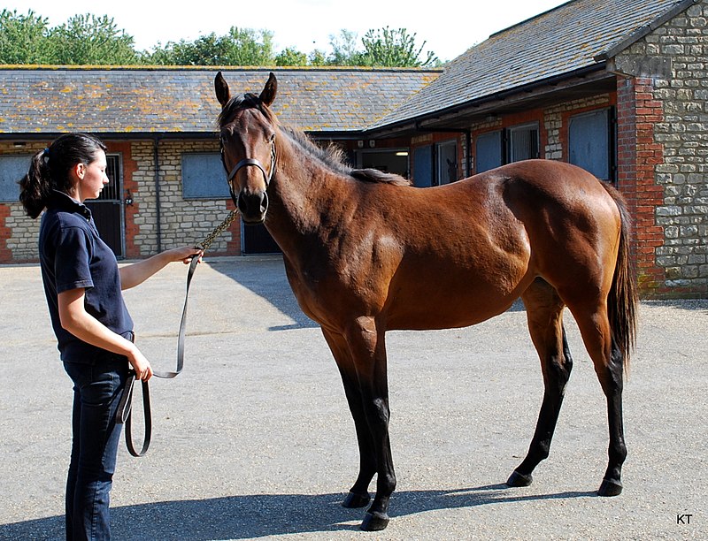
{"type": "Polygon", "coordinates": [[[152,376],[133,343],[133,320],[121,290],[167,263],[189,263],[196,248],[174,248],[119,268],[101,240],[87,199],[108,183],[105,146],[85,133],[60,136],[32,159],[19,199],[36,218],[46,209],[39,254],[51,324],[73,380],[73,443],[66,482],[66,538],[111,537],[109,491],[118,451],[116,408],[128,370],[152,376]]]}

